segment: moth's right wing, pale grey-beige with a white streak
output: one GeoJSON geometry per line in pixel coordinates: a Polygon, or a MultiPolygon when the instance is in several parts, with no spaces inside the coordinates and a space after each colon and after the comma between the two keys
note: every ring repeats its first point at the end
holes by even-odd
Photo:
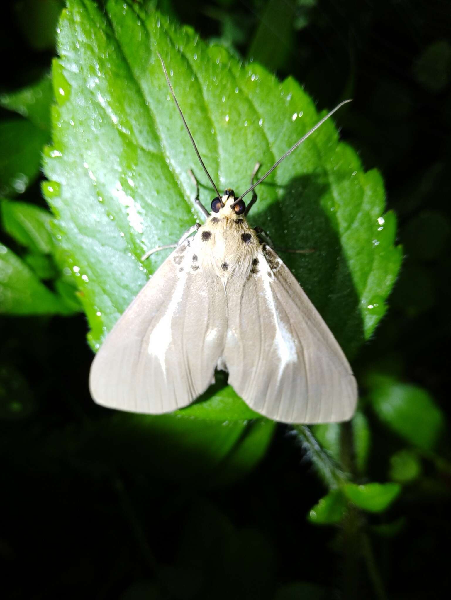
{"type": "Polygon", "coordinates": [[[269,249],[257,256],[241,290],[227,287],[229,383],[277,421],[347,421],[357,384],[341,347],[282,260],[269,249]]]}

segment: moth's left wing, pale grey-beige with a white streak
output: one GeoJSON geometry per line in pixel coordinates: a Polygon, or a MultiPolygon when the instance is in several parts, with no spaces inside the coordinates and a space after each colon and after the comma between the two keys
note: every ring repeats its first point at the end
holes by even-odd
{"type": "Polygon", "coordinates": [[[193,262],[194,242],[163,262],[98,350],[89,376],[98,404],[171,412],[210,385],[225,344],[226,299],[219,278],[193,262]]]}

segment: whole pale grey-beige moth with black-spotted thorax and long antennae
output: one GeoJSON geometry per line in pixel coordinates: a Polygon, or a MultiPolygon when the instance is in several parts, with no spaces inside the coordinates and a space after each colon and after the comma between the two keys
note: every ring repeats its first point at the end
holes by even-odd
{"type": "MultiPolygon", "coordinates": [[[[217,196],[120,317],[94,358],[92,398],[138,413],[192,403],[215,369],[256,412],[285,423],[347,421],[357,385],[341,347],[261,229],[247,223],[255,187],[344,101],[241,194],[220,194],[169,81],[172,98],[217,196]],[[252,191],[246,206],[243,197],[252,191]],[[193,236],[193,234],[195,234],[193,236]]],[[[163,246],[153,251],[167,248],[163,246]]],[[[147,258],[150,251],[142,257],[147,258]]]]}

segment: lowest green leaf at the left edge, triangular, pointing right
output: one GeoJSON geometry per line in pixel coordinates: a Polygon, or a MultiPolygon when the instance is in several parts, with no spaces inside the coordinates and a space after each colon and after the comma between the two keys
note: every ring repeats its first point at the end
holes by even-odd
{"type": "Polygon", "coordinates": [[[68,314],[64,302],[0,244],[0,314],[68,314]]]}

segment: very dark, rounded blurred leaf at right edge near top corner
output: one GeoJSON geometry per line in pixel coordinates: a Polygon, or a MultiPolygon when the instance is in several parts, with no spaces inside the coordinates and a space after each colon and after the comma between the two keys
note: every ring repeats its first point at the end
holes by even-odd
{"type": "Polygon", "coordinates": [[[451,74],[451,44],[435,41],[416,60],[412,71],[417,82],[429,92],[441,92],[449,83],[451,74]]]}

